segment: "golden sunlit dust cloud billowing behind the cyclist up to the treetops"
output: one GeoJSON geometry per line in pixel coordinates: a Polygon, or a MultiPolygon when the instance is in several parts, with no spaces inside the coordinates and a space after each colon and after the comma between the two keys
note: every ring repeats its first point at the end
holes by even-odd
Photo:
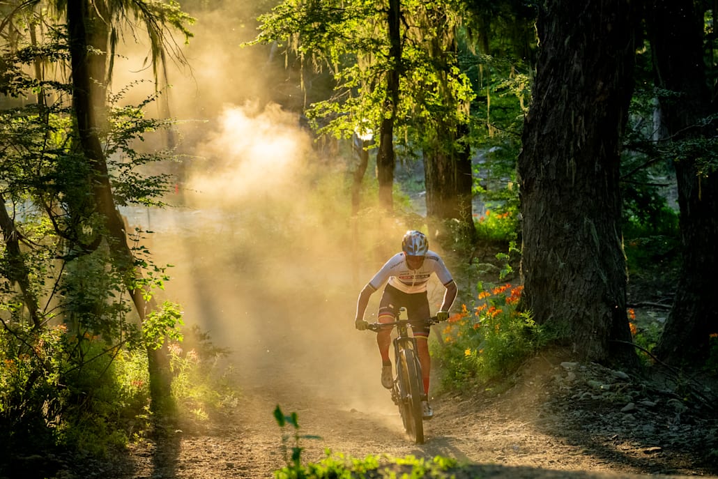
{"type": "MultiPolygon", "coordinates": [[[[396,416],[375,335],[356,331],[353,318],[360,289],[398,251],[406,225],[352,222],[351,160],[317,148],[300,126],[283,60],[279,68],[268,47],[239,47],[256,34],[257,12],[237,3],[190,11],[191,71],[169,73],[169,111],[182,120],[182,159],[167,166],[177,175],[172,206],[123,213],[154,232],[154,262],[174,265],[159,299],[181,304],[187,327],[231,351],[239,389],[264,390],[268,414],[304,397],[396,416]]],[[[115,85],[147,75],[143,48],[118,62],[115,85]]],[[[144,95],[133,89],[126,101],[144,95]]]]}

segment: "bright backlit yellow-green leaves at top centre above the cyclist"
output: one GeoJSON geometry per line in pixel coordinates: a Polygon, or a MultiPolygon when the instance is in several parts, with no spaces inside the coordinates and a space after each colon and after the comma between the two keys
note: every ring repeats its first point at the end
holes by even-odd
{"type": "Polygon", "coordinates": [[[437,125],[468,121],[474,93],[452,51],[461,11],[455,1],[402,2],[401,65],[387,55],[386,9],[365,0],[286,0],[259,18],[261,33],[247,45],[276,42],[287,59],[297,55],[302,71],[306,65],[331,73],[332,94],[304,113],[314,129],[337,138],[380,130],[388,114],[386,76],[396,71],[401,93],[394,141],[416,152],[437,125]]]}

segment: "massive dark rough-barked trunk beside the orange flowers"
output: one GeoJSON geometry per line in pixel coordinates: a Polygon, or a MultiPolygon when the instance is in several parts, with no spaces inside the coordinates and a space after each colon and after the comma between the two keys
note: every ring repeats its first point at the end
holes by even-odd
{"type": "Polygon", "coordinates": [[[637,365],[626,313],[620,136],[632,93],[630,0],[549,0],[523,130],[522,307],[583,358],[637,365]]]}

